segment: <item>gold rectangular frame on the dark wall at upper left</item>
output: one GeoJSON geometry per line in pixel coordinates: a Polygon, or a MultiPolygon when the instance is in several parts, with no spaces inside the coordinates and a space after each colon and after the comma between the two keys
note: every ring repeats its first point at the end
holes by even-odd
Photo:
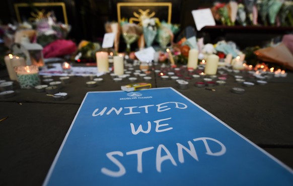
{"type": "Polygon", "coordinates": [[[20,17],[20,8],[22,7],[61,7],[62,8],[62,14],[64,18],[64,23],[68,24],[68,19],[67,19],[67,13],[66,13],[66,8],[65,8],[65,3],[32,3],[32,4],[27,4],[27,3],[16,3],[14,4],[14,9],[16,13],[16,18],[19,23],[22,22],[21,17],[20,17]]]}

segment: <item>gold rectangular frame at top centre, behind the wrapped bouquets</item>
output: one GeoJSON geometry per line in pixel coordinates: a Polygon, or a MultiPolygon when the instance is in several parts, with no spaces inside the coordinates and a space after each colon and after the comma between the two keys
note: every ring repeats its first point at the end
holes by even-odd
{"type": "Polygon", "coordinates": [[[172,3],[117,3],[118,23],[121,22],[121,7],[168,7],[168,23],[171,23],[172,3]]]}

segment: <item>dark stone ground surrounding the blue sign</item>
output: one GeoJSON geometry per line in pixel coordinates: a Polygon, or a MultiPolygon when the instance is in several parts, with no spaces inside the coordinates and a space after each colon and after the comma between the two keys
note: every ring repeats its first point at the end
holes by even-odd
{"type": "MultiPolygon", "coordinates": [[[[129,77],[116,82],[110,74],[105,74],[99,77],[103,78],[102,82],[90,88],[86,84],[92,81],[90,77],[70,77],[70,82],[60,89],[68,94],[68,98],[61,101],[35,89],[20,89],[18,82],[14,82],[15,95],[0,98],[0,119],[6,118],[0,121],[0,185],[41,185],[86,93],[121,90],[122,85],[137,82],[150,83],[152,88],[175,88],[293,168],[293,73],[284,78],[265,79],[267,83],[260,85],[246,71],[221,69],[216,77],[198,77],[193,75],[199,71],[188,71],[184,67],[172,69],[159,64],[150,67],[146,76],[151,80],[145,81],[139,76],[144,72],[134,74],[139,71],[139,66],[130,65],[125,69],[131,72],[130,77],[137,78],[135,82],[129,77]],[[171,78],[176,75],[188,85],[182,87],[171,78]],[[254,85],[244,86],[235,80],[237,76],[254,85]],[[195,86],[198,82],[216,82],[219,77],[227,79],[225,85],[195,86]],[[244,93],[234,93],[233,88],[244,89],[244,93]]],[[[59,81],[60,77],[52,78],[59,81]]],[[[0,71],[0,79],[9,81],[5,69],[0,71]]]]}

